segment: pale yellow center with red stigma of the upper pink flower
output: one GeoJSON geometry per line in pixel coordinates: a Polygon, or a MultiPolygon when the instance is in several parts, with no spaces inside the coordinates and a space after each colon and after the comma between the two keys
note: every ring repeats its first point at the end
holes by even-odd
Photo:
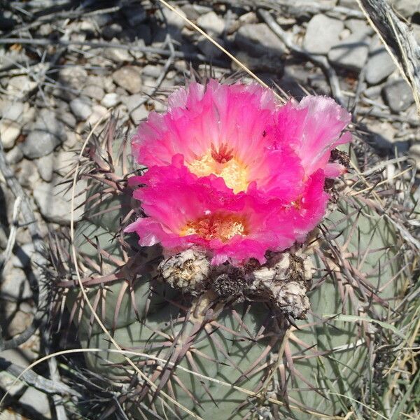
{"type": "Polygon", "coordinates": [[[246,166],[232,155],[232,149],[229,150],[226,144],[222,144],[218,151],[211,145],[211,150],[186,165],[197,176],[221,176],[235,194],[248,188],[246,166]]]}

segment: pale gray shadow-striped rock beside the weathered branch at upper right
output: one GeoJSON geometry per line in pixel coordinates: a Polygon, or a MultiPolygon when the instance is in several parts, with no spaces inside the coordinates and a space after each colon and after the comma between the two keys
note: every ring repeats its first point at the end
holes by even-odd
{"type": "Polygon", "coordinates": [[[375,38],[369,52],[369,58],[365,66],[365,80],[370,85],[377,85],[386,79],[395,70],[395,64],[391,56],[375,38]]]}

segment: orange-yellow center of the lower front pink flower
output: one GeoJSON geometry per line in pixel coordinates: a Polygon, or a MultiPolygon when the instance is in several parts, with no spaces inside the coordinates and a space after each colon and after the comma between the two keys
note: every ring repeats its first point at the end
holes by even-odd
{"type": "Polygon", "coordinates": [[[243,218],[231,214],[203,216],[188,222],[180,233],[181,236],[198,235],[204,239],[220,239],[227,242],[235,235],[247,235],[243,218]]]}

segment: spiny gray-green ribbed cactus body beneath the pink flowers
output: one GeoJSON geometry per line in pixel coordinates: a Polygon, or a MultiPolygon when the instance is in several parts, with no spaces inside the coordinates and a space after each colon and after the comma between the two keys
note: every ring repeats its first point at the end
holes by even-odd
{"type": "MultiPolygon", "coordinates": [[[[122,176],[118,162],[113,166],[122,176]]],[[[117,233],[131,208],[130,191],[106,195],[106,187],[95,179],[90,183],[90,196],[102,198],[88,202],[85,220],[76,228],[76,246],[83,258],[102,265],[102,272],[85,268],[87,294],[123,349],[154,358],[130,356],[158,390],[202,419],[264,419],[271,418],[269,413],[323,419],[352,407],[337,394],[358,398],[369,372],[366,342],[378,325],[349,316],[386,319],[397,302],[391,297],[398,296],[402,265],[398,235],[366,200],[342,197],[321,228],[325,237],[320,233],[305,251],[316,267],[311,312],[296,321],[299,329],[287,331],[286,318],[263,302],[216,304],[194,314],[200,297],[183,296],[156,279],[157,248],[138,249],[128,265],[119,267],[115,260],[125,261],[127,244],[117,233]],[[105,209],[113,210],[98,215],[105,209]],[[100,283],[113,273],[118,279],[100,283]],[[99,283],[92,285],[94,279],[99,283]],[[332,314],[348,317],[326,321],[332,314]]],[[[69,309],[74,312],[79,301],[78,288],[70,288],[69,309]]],[[[83,346],[112,349],[86,305],[73,318],[83,346]]],[[[133,382],[135,373],[120,354],[86,353],[85,360],[111,384],[132,384],[125,407],[135,419],[190,418],[141,379],[133,382]]]]}

